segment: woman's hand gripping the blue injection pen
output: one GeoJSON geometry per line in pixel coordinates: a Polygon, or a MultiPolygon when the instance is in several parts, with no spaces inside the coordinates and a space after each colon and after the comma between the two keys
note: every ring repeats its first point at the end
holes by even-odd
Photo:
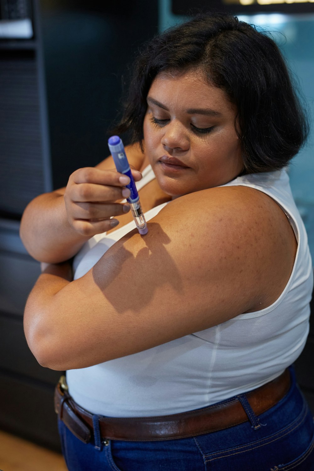
{"type": "MultiPolygon", "coordinates": [[[[142,175],[131,170],[134,180],[142,175]]],[[[67,220],[79,234],[92,237],[106,232],[119,223],[114,216],[125,214],[129,205],[117,203],[129,197],[129,177],[116,170],[85,167],[74,171],[64,193],[67,220]]]]}

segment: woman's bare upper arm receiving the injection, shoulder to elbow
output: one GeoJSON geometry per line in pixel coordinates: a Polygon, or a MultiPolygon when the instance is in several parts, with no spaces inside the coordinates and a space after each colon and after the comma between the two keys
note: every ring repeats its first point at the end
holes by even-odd
{"type": "Polygon", "coordinates": [[[269,218],[258,223],[258,211],[217,191],[169,203],[145,237],[132,231],[56,293],[47,357],[62,351],[66,369],[94,365],[220,324],[262,299],[278,251],[269,218]]]}

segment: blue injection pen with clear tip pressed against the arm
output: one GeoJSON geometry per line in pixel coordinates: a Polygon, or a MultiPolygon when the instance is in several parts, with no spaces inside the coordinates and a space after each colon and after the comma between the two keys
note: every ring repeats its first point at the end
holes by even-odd
{"type": "Polygon", "coordinates": [[[114,164],[116,166],[117,171],[123,173],[124,175],[128,175],[129,179],[131,180],[129,185],[126,185],[126,187],[129,188],[131,192],[129,198],[127,198],[127,202],[130,205],[132,216],[135,220],[138,232],[141,235],[147,234],[147,223],[145,221],[141,203],[139,202],[137,188],[135,186],[135,181],[133,179],[129,162],[125,154],[123,143],[119,136],[111,136],[111,138],[108,139],[108,146],[111,155],[113,156],[114,164]]]}

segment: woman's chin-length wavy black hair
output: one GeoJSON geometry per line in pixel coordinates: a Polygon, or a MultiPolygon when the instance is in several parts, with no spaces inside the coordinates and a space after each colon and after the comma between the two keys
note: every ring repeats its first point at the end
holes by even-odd
{"type": "MultiPolygon", "coordinates": [[[[282,169],[308,133],[306,115],[275,42],[226,14],[202,14],[154,37],[134,65],[117,133],[143,139],[146,97],[162,71],[201,70],[237,107],[245,173],[282,169]]],[[[143,150],[143,149],[142,149],[143,150]]]]}

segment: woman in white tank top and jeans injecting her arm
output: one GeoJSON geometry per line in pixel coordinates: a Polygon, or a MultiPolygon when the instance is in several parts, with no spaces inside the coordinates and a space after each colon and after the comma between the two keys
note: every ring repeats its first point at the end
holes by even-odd
{"type": "Polygon", "coordinates": [[[158,36],[125,130],[147,235],[117,203],[128,180],[111,159],[35,199],[21,227],[49,263],[24,326],[40,364],[68,370],[56,410],[69,469],[314,469],[287,370],[313,286],[284,170],[306,122],[277,47],[225,15],[158,36]],[[60,262],[76,253],[72,281],[60,262]]]}

